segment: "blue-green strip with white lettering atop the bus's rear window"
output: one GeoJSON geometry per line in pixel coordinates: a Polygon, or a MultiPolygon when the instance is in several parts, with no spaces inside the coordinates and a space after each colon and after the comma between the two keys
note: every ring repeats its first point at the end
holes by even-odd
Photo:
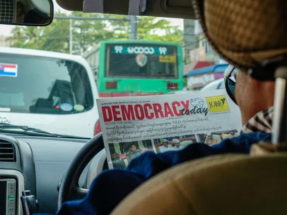
{"type": "Polygon", "coordinates": [[[166,47],[151,46],[114,46],[114,53],[146,54],[146,55],[167,55],[166,47]]]}

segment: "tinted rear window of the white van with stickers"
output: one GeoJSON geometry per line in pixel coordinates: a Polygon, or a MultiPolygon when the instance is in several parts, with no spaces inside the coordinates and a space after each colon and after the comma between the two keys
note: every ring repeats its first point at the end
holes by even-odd
{"type": "Polygon", "coordinates": [[[64,59],[0,53],[0,112],[74,114],[93,96],[86,69],[64,59]]]}

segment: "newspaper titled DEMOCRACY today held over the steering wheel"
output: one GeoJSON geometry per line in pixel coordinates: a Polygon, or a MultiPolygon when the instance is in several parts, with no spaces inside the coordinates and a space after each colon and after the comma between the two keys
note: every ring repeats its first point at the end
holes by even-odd
{"type": "Polygon", "coordinates": [[[238,106],[225,89],[182,94],[97,99],[109,169],[152,151],[180,150],[238,136],[238,106]]]}

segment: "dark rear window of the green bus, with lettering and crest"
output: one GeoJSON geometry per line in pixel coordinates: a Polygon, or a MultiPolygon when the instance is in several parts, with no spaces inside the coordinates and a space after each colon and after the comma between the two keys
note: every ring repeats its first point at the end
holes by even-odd
{"type": "Polygon", "coordinates": [[[107,44],[105,77],[177,79],[177,46],[107,44]]]}

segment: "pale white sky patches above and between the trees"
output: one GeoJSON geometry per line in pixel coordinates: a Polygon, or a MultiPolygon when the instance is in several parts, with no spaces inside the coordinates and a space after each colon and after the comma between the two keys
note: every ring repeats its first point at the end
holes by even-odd
{"type": "MultiPolygon", "coordinates": [[[[63,8],[61,8],[55,0],[53,0],[54,2],[54,11],[58,11],[60,10],[61,12],[64,12],[64,13],[71,13],[70,11],[66,11],[64,10],[63,8]]],[[[161,19],[161,18],[159,18],[161,19]]],[[[163,18],[165,20],[168,20],[171,22],[171,25],[174,25],[174,26],[180,26],[180,29],[183,29],[183,20],[182,19],[173,19],[173,18],[163,18]]],[[[0,25],[0,35],[4,35],[4,36],[9,36],[11,35],[10,32],[12,30],[12,28],[14,28],[13,25],[0,25]]],[[[158,32],[159,34],[162,34],[161,32],[158,32]]]]}

